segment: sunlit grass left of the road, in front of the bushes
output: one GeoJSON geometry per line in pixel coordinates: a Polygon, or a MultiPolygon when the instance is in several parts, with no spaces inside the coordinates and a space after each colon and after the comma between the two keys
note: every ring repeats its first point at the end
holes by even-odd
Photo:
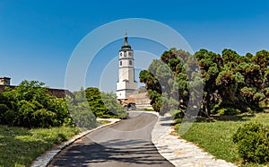
{"type": "Polygon", "coordinates": [[[0,126],[0,166],[29,166],[40,154],[78,133],[75,127],[0,126]]]}

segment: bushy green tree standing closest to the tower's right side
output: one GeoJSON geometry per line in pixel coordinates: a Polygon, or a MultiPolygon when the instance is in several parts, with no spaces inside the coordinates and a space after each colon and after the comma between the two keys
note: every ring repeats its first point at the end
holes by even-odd
{"type": "Polygon", "coordinates": [[[140,73],[140,82],[146,85],[152,108],[161,115],[168,110],[187,109],[189,80],[195,81],[195,74],[191,74],[195,66],[190,57],[183,50],[171,48],[161,55],[160,60],[153,60],[148,70],[140,73]]]}

